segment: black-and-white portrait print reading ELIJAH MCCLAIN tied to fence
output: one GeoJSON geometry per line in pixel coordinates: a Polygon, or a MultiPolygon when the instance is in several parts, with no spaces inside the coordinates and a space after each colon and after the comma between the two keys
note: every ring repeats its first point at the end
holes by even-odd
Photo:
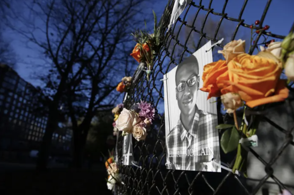
{"type": "Polygon", "coordinates": [[[210,47],[209,41],[164,75],[168,169],[220,172],[216,98],[199,90],[203,67],[213,62],[210,47]]]}

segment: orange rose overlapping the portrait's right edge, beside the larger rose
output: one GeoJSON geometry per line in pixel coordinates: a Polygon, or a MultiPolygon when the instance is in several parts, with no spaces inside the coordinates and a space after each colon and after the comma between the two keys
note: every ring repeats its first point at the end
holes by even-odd
{"type": "Polygon", "coordinates": [[[221,95],[216,82],[217,78],[226,71],[228,71],[228,66],[225,60],[219,60],[204,66],[202,74],[203,86],[200,90],[203,92],[209,92],[207,99],[221,95]]]}

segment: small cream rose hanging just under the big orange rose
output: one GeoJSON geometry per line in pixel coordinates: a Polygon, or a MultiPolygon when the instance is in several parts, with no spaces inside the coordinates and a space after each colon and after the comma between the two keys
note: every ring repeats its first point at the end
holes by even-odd
{"type": "Polygon", "coordinates": [[[220,99],[224,104],[224,110],[227,110],[227,113],[234,113],[236,109],[243,106],[241,97],[237,93],[226,93],[220,96],[220,99]]]}

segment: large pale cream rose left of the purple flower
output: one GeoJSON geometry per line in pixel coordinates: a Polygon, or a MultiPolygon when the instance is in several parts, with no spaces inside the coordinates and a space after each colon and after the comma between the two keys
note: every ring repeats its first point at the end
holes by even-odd
{"type": "Polygon", "coordinates": [[[137,114],[124,108],[119,118],[115,121],[115,127],[119,129],[119,131],[131,133],[133,127],[140,121],[141,119],[138,118],[137,114]]]}

